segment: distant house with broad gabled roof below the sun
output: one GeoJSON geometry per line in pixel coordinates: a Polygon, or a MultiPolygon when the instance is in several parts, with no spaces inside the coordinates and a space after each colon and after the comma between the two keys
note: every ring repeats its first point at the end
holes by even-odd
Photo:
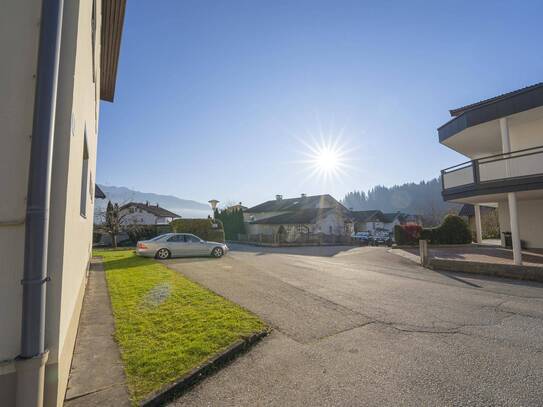
{"type": "Polygon", "coordinates": [[[248,235],[281,235],[287,242],[314,235],[347,237],[353,231],[349,210],[330,195],[277,195],[245,210],[243,217],[248,235]]]}

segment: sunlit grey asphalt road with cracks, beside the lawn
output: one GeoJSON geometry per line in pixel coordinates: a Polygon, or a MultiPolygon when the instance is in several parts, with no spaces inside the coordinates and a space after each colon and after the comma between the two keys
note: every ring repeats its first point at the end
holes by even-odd
{"type": "Polygon", "coordinates": [[[274,331],[175,405],[543,405],[543,285],[385,248],[232,248],[167,263],[274,331]]]}

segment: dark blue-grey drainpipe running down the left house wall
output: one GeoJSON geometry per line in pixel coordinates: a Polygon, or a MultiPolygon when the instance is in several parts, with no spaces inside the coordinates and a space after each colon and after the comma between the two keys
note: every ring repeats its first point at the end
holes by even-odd
{"type": "Polygon", "coordinates": [[[40,42],[25,224],[21,354],[16,360],[17,406],[43,405],[45,283],[49,196],[55,132],[63,0],[42,0],[40,42]]]}

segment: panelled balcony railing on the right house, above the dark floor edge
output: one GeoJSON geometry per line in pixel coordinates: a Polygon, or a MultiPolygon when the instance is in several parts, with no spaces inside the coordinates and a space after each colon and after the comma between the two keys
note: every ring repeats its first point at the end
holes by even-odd
{"type": "Polygon", "coordinates": [[[443,191],[543,176],[543,146],[478,158],[441,171],[443,191]]]}

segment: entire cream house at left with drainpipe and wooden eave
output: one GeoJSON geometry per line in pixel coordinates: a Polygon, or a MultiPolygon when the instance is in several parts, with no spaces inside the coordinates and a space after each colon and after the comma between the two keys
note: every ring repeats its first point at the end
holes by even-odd
{"type": "Polygon", "coordinates": [[[99,100],[124,0],[6,0],[0,13],[0,404],[64,401],[92,249],[99,100]]]}

